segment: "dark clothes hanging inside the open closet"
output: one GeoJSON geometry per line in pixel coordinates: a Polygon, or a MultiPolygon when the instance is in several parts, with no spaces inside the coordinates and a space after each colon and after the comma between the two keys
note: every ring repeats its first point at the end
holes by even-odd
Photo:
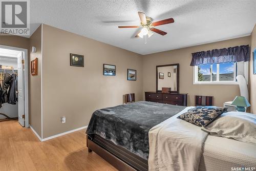
{"type": "Polygon", "coordinates": [[[15,73],[2,75],[2,84],[0,83],[0,108],[3,103],[16,104],[17,102],[17,88],[18,77],[15,73]]]}

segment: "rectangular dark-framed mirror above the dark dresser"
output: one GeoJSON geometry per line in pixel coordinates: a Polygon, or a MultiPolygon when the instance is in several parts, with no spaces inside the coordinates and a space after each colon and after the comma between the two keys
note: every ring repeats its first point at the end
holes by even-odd
{"type": "Polygon", "coordinates": [[[170,90],[169,93],[179,93],[179,63],[157,66],[156,91],[170,90]]]}

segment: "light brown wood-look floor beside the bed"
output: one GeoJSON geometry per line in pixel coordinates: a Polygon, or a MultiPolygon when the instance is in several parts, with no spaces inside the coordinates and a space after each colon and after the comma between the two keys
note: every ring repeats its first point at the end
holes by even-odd
{"type": "Polygon", "coordinates": [[[40,142],[15,120],[0,120],[0,170],[116,170],[88,153],[85,130],[40,142]]]}

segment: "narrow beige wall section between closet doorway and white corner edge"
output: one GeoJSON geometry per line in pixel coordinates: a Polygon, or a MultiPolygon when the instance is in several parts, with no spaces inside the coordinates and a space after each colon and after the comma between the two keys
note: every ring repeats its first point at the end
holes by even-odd
{"type": "Polygon", "coordinates": [[[29,70],[29,87],[30,87],[30,125],[36,131],[36,133],[41,137],[41,26],[30,37],[30,61],[38,58],[37,61],[37,75],[31,75],[29,70]],[[32,46],[36,47],[36,53],[32,52],[32,46]]]}

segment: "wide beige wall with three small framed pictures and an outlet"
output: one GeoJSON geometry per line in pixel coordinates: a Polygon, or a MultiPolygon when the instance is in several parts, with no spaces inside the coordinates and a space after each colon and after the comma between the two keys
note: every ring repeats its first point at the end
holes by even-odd
{"type": "Polygon", "coordinates": [[[141,55],[48,25],[42,31],[43,138],[88,125],[95,110],[122,104],[126,93],[142,100],[141,55]],[[84,68],[70,66],[70,53],[84,55],[84,68]],[[103,76],[103,63],[116,65],[116,76],[103,76]],[[137,70],[137,81],[127,80],[127,69],[137,70]]]}

